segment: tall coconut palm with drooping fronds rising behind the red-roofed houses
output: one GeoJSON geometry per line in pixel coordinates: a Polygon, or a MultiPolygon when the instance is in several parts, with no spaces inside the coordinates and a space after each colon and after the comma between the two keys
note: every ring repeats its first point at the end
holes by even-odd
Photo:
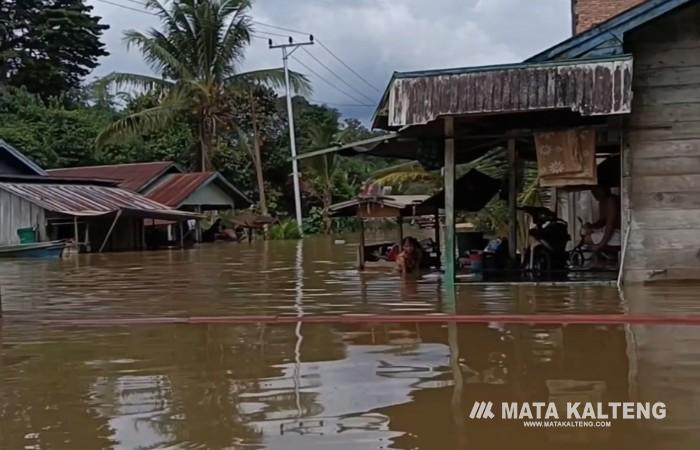
{"type": "MultiPolygon", "coordinates": [[[[127,48],[141,51],[157,76],[115,72],[99,84],[157,92],[160,104],[112,123],[97,144],[161,130],[188,114],[196,125],[200,168],[208,170],[219,134],[232,125],[230,94],[260,84],[281,87],[284,73],[281,69],[239,72],[252,33],[250,0],[175,0],[169,7],[145,0],[144,5],[160,18],[162,29],[130,30],[124,40],[127,48]]],[[[292,73],[290,80],[296,92],[310,91],[303,75],[292,73]]],[[[259,158],[254,159],[259,165],[259,158]]]]}

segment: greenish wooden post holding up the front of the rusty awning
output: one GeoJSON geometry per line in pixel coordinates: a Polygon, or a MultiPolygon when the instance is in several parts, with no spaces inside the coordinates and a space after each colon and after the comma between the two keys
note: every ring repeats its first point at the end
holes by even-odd
{"type": "Polygon", "coordinates": [[[454,118],[445,117],[445,282],[455,283],[455,140],[454,118]]]}

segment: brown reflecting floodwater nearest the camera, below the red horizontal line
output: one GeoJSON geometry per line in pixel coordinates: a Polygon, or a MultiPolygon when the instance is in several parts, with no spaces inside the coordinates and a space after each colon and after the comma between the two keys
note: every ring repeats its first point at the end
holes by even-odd
{"type": "Polygon", "coordinates": [[[656,338],[677,328],[654,329],[632,330],[653,338],[631,352],[624,326],[306,324],[297,359],[294,325],[4,325],[0,448],[695,448],[698,333],[674,353],[656,338]],[[477,400],[562,396],[665,401],[669,418],[556,432],[467,419],[477,400]]]}

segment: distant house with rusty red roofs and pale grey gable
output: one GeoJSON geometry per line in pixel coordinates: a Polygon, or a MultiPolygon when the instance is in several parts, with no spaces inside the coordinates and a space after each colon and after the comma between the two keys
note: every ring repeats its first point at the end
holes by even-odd
{"type": "Polygon", "coordinates": [[[49,170],[48,174],[112,180],[123,189],[185,211],[240,209],[252,203],[219,172],[183,173],[171,161],[70,167],[49,170]]]}

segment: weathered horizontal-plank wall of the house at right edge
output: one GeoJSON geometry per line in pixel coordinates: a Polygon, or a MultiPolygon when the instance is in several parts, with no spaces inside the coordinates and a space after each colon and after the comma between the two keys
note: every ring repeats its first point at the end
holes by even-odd
{"type": "Polygon", "coordinates": [[[700,5],[626,38],[634,55],[626,281],[700,279],[700,5]]]}

